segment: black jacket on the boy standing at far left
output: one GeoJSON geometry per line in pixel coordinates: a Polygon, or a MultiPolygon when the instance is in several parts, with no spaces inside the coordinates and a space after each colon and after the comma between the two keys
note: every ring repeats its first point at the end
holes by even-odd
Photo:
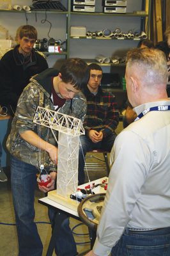
{"type": "Polygon", "coordinates": [[[32,50],[31,62],[24,64],[19,45],[4,54],[0,60],[0,105],[6,106],[11,113],[17,107],[17,101],[29,79],[48,68],[47,61],[35,49],[32,50]]]}

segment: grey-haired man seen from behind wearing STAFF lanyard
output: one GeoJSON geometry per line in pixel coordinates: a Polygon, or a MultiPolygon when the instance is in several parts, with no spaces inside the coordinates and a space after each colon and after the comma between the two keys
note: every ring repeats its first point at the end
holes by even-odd
{"type": "Polygon", "coordinates": [[[97,239],[86,256],[168,256],[170,98],[164,53],[129,51],[125,79],[137,118],[114,142],[97,239]]]}

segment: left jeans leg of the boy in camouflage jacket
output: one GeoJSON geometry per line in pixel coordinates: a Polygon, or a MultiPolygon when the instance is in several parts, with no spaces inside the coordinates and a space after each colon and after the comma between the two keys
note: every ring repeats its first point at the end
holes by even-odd
{"type": "Polygon", "coordinates": [[[34,223],[36,173],[35,166],[11,157],[12,195],[19,256],[42,256],[43,245],[34,223]]]}

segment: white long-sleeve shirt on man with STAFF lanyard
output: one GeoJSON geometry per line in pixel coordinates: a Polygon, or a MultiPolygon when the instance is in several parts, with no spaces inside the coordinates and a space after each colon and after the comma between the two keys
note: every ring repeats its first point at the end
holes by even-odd
{"type": "MultiPolygon", "coordinates": [[[[168,101],[135,108],[137,115],[168,101]]],[[[93,252],[109,255],[126,227],[170,226],[170,111],[150,111],[116,138],[93,252]]]]}

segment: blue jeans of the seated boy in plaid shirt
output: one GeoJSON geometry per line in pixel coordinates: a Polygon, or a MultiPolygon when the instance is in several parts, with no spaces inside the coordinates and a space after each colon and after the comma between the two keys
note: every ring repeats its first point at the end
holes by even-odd
{"type": "Polygon", "coordinates": [[[81,145],[79,146],[79,169],[78,169],[79,185],[84,184],[84,180],[85,180],[84,158],[86,156],[86,153],[90,150],[93,150],[94,148],[111,151],[112,145],[115,139],[116,139],[116,133],[114,132],[111,135],[107,136],[107,138],[103,138],[103,140],[98,143],[93,143],[86,135],[80,136],[81,145]]]}

